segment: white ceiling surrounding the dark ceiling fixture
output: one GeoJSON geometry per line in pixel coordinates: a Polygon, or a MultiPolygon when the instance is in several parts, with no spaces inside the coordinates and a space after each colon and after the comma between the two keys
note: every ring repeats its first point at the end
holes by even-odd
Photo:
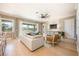
{"type": "Polygon", "coordinates": [[[25,4],[25,3],[0,3],[0,11],[14,16],[43,21],[37,16],[36,12],[46,12],[50,19],[58,19],[75,13],[74,3],[53,3],[53,4],[25,4]]]}

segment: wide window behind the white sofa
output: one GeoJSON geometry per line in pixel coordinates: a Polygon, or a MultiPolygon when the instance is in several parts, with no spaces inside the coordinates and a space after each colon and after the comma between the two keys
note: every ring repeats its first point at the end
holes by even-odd
{"type": "Polygon", "coordinates": [[[37,30],[36,25],[26,24],[26,23],[22,24],[22,29],[23,29],[23,31],[28,31],[28,32],[34,32],[37,30]]]}

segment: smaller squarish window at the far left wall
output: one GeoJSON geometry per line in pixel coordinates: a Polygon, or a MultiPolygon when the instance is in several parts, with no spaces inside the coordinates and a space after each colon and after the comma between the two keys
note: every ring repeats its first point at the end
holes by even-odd
{"type": "Polygon", "coordinates": [[[2,20],[2,31],[11,32],[12,31],[12,21],[2,20]]]}

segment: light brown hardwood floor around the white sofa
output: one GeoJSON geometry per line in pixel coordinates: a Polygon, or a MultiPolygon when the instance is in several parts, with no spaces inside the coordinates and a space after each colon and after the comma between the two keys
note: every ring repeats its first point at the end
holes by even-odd
{"type": "Polygon", "coordinates": [[[77,56],[75,42],[64,39],[55,47],[45,44],[44,47],[34,52],[22,44],[19,40],[9,40],[5,49],[5,56],[77,56]]]}

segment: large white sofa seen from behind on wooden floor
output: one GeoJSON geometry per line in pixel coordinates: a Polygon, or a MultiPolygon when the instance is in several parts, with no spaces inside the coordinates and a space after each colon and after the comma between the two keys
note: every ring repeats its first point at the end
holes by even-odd
{"type": "Polygon", "coordinates": [[[24,43],[31,51],[34,51],[44,45],[42,35],[21,35],[21,42],[24,43]]]}

